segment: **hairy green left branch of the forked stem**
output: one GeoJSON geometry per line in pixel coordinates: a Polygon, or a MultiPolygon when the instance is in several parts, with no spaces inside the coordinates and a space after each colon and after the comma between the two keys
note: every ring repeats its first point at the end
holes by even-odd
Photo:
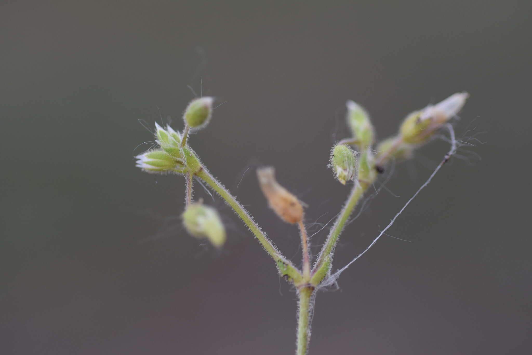
{"type": "Polygon", "coordinates": [[[270,254],[273,260],[276,261],[279,273],[282,277],[285,277],[287,280],[292,280],[294,284],[300,285],[304,283],[303,276],[301,271],[297,270],[292,262],[287,260],[280,252],[277,250],[277,247],[273,242],[268,238],[262,229],[255,223],[253,218],[250,216],[244,207],[233,197],[229,191],[216,179],[214,178],[207,169],[202,166],[202,169],[196,172],[196,175],[200,177],[207,185],[209,185],[215,192],[217,192],[222,199],[224,199],[227,204],[238,214],[238,217],[244,221],[246,226],[250,228],[251,232],[255,235],[257,240],[264,247],[264,250],[270,254]]]}

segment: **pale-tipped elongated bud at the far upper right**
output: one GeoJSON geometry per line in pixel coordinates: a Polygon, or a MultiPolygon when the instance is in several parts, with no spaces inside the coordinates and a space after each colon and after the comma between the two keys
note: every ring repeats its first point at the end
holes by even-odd
{"type": "Polygon", "coordinates": [[[468,93],[456,93],[442,102],[409,114],[399,129],[403,142],[425,143],[445,122],[462,109],[468,97],[468,93]]]}

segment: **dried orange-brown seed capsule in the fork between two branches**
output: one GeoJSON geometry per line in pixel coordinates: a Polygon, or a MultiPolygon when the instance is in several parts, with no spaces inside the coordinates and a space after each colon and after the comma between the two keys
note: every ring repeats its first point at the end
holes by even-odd
{"type": "Polygon", "coordinates": [[[279,185],[275,179],[275,169],[265,167],[257,169],[257,178],[262,193],[268,200],[270,208],[277,216],[288,223],[297,223],[303,220],[303,206],[297,197],[279,185]]]}

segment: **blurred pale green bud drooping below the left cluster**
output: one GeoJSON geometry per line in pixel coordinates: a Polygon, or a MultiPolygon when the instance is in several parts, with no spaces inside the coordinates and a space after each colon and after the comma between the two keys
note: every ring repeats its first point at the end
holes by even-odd
{"type": "Polygon", "coordinates": [[[183,212],[182,218],[187,232],[196,238],[207,238],[218,248],[226,242],[226,229],[218,212],[212,207],[192,203],[183,212]]]}

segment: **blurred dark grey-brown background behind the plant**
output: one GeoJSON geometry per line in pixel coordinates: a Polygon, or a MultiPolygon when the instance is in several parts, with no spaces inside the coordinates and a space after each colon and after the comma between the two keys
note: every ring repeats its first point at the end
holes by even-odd
{"type": "MultiPolygon", "coordinates": [[[[296,262],[297,230],[266,207],[254,168],[277,167],[316,232],[348,191],[326,167],[347,136],[347,99],[385,138],[406,113],[467,90],[456,132],[469,125],[487,143],[460,151],[389,229],[395,238],[318,294],[310,353],[529,353],[531,10],[480,0],[2,2],[0,353],[293,353],[295,293],[246,228],[198,186],[229,231],[213,250],[181,227],[183,179],[135,168],[148,147],[137,145],[153,139],[139,120],[151,129],[170,116],[180,129],[188,85],[225,102],[190,144],[296,262]]],[[[343,234],[336,268],[447,148],[436,141],[397,165],[390,192],[343,234]]]]}

